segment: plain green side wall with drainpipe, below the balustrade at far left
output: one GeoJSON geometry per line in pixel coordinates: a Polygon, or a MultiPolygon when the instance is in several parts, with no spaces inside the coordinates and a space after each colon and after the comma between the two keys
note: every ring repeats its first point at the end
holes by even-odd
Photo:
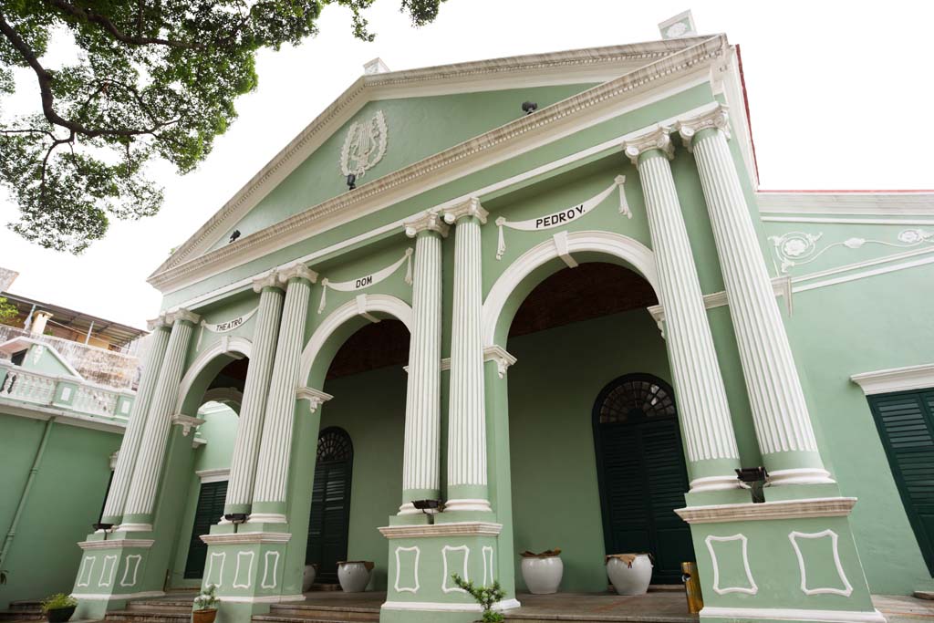
{"type": "MultiPolygon", "coordinates": [[[[0,413],[0,533],[7,535],[46,422],[0,413]]],[[[53,423],[25,510],[3,570],[0,610],[8,602],[68,592],[83,541],[100,517],[110,455],[122,435],[53,423]]],[[[0,537],[0,538],[3,538],[0,537]]]]}

